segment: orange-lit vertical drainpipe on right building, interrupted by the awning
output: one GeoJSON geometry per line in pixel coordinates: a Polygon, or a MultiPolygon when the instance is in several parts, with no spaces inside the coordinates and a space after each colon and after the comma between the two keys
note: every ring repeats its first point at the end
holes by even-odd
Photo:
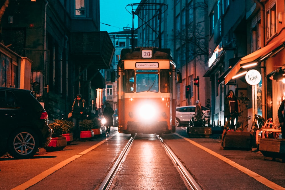
{"type": "MultiPolygon", "coordinates": [[[[254,0],[254,2],[260,7],[260,46],[261,48],[265,45],[264,40],[264,5],[260,3],[258,0],[254,0]]],[[[266,75],[265,75],[265,61],[261,62],[261,101],[262,101],[262,117],[266,118],[266,104],[265,104],[265,93],[266,93],[266,75]]]]}

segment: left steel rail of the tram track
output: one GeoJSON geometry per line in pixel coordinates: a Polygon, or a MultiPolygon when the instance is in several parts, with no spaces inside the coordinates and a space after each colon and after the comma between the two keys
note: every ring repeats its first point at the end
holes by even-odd
{"type": "Polygon", "coordinates": [[[129,150],[134,138],[135,136],[130,138],[129,142],[126,144],[125,148],[122,150],[120,156],[118,157],[118,159],[116,160],[116,162],[114,163],[114,165],[112,166],[108,174],[106,175],[105,179],[99,186],[98,190],[106,190],[110,188],[111,183],[113,182],[113,179],[122,163],[122,160],[123,158],[125,158],[126,152],[129,150]]]}

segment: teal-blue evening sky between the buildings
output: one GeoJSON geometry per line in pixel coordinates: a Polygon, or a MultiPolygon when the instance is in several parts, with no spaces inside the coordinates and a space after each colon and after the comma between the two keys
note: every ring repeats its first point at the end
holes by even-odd
{"type": "MultiPolygon", "coordinates": [[[[109,32],[123,31],[123,27],[133,27],[131,3],[140,3],[140,0],[100,0],[100,30],[109,32]],[[104,24],[102,24],[104,23],[104,24]],[[109,24],[111,26],[108,26],[109,24]]],[[[137,6],[136,6],[137,7],[137,6]]],[[[133,9],[136,9],[133,7],[133,9]]],[[[134,27],[138,27],[138,17],[135,16],[134,27]]]]}

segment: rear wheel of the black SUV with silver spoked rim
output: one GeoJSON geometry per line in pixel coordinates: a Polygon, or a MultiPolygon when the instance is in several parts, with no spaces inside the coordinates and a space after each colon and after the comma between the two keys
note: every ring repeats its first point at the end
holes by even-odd
{"type": "Polygon", "coordinates": [[[14,158],[31,158],[38,150],[38,136],[28,128],[20,128],[8,139],[8,152],[14,158]]]}

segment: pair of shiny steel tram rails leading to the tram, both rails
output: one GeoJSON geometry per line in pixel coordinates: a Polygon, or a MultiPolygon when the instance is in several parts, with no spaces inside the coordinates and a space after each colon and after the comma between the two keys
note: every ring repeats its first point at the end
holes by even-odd
{"type": "MultiPolygon", "coordinates": [[[[108,190],[111,187],[111,184],[113,182],[113,179],[115,178],[115,175],[123,163],[124,158],[127,156],[127,152],[131,149],[131,145],[135,139],[136,135],[130,138],[126,146],[123,148],[121,154],[107,173],[106,177],[103,179],[101,185],[99,186],[98,190],[108,190]]],[[[174,152],[169,148],[169,146],[164,142],[164,140],[159,136],[156,135],[158,140],[160,140],[161,145],[166,150],[169,158],[174,163],[174,166],[178,169],[183,179],[188,184],[189,188],[192,190],[201,190],[201,187],[198,185],[198,183],[195,181],[195,179],[192,177],[192,175],[187,171],[187,169],[183,166],[182,162],[177,158],[177,156],[174,154],[174,152]]]]}

